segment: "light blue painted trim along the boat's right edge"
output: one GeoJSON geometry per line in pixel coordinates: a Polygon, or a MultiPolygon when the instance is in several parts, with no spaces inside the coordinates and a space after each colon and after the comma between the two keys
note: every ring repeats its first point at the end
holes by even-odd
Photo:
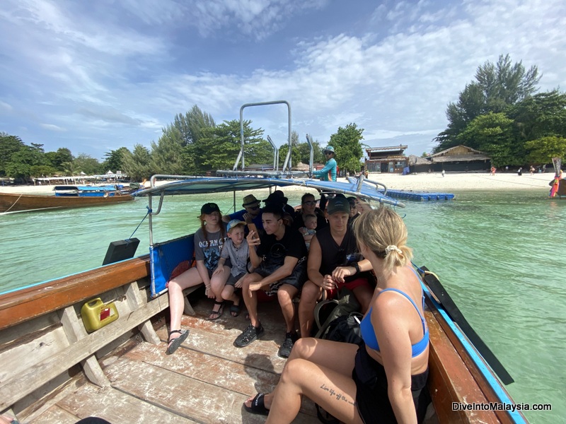
{"type": "MultiPolygon", "coordinates": [[[[461,341],[462,346],[466,349],[466,352],[470,355],[470,358],[473,360],[475,365],[478,367],[478,370],[480,370],[483,377],[485,377],[486,381],[490,384],[490,387],[493,389],[493,391],[495,391],[497,399],[499,399],[499,401],[502,404],[514,405],[515,404],[514,401],[512,401],[512,399],[509,398],[509,394],[507,394],[507,391],[505,391],[502,388],[502,385],[499,382],[499,380],[493,375],[492,371],[487,367],[487,365],[485,365],[485,362],[481,358],[480,354],[478,353],[478,351],[475,350],[474,346],[470,343],[470,341],[468,340],[466,335],[463,334],[462,331],[460,331],[458,326],[456,326],[456,324],[454,324],[454,322],[448,316],[448,314],[446,314],[444,307],[442,307],[434,299],[434,296],[430,293],[427,286],[424,285],[424,283],[422,283],[422,281],[421,281],[420,285],[421,285],[424,293],[426,293],[427,298],[429,298],[429,300],[432,302],[434,307],[437,308],[438,312],[441,314],[441,316],[444,318],[446,323],[449,325],[450,329],[452,331],[454,331],[454,334],[456,334],[456,336],[458,337],[458,340],[461,341]]],[[[521,416],[521,414],[518,411],[513,412],[513,411],[509,410],[509,411],[506,411],[506,412],[509,413],[509,416],[511,416],[514,423],[529,424],[528,421],[526,421],[525,418],[523,416],[521,416]]]]}

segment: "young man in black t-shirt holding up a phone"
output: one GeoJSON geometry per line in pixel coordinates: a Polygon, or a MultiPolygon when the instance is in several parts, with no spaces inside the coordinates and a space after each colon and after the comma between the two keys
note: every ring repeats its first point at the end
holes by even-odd
{"type": "Polygon", "coordinates": [[[258,290],[264,290],[268,296],[277,295],[279,300],[286,326],[279,356],[287,358],[297,339],[293,299],[306,281],[307,252],[301,233],[284,225],[283,215],[280,204],[268,204],[262,214],[265,234],[259,238],[253,230],[248,234],[250,262],[254,271],[243,278],[242,296],[250,315],[250,325],[233,344],[243,348],[262,336],[258,290]]]}

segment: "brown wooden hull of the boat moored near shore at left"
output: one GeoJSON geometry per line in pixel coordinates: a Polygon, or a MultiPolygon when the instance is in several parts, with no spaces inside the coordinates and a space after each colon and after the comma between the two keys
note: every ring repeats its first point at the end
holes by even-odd
{"type": "Polygon", "coordinates": [[[83,208],[133,201],[129,194],[115,196],[47,196],[40,194],[0,193],[0,213],[37,211],[38,209],[83,208]]]}

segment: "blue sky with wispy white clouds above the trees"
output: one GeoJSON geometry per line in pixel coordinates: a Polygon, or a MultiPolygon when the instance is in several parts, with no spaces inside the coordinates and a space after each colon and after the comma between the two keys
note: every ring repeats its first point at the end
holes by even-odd
{"type": "MultiPolygon", "coordinates": [[[[565,28],[563,0],[2,0],[0,132],[103,160],[193,105],[219,124],[286,100],[301,142],[355,123],[421,155],[500,54],[562,90],[565,28]]],[[[287,113],[243,117],[282,145],[287,113]]]]}

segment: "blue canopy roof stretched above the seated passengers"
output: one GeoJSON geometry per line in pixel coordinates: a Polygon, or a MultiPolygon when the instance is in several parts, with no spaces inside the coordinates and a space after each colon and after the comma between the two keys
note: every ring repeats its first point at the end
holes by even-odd
{"type": "MultiPolygon", "coordinates": [[[[221,192],[240,192],[243,190],[265,189],[269,187],[305,187],[317,189],[319,192],[342,193],[345,196],[357,196],[367,201],[379,201],[381,204],[405,207],[397,199],[392,199],[378,190],[377,185],[357,182],[320,181],[318,179],[270,178],[270,177],[194,177],[180,181],[168,182],[156,186],[156,177],[151,177],[151,188],[141,189],[132,196],[161,196],[166,194],[207,194],[221,192]]],[[[165,177],[165,176],[163,176],[165,177]]],[[[167,176],[173,177],[173,176],[167,176]]]]}

